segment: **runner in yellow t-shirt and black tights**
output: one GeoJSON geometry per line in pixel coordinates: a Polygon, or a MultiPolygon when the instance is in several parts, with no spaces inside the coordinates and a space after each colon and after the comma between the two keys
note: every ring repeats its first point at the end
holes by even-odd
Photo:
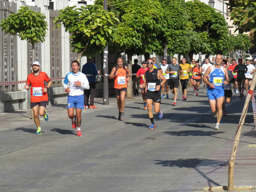
{"type": "Polygon", "coordinates": [[[183,57],[181,59],[181,64],[179,64],[181,66],[181,69],[183,71],[183,76],[181,76],[180,79],[180,83],[181,83],[181,87],[182,87],[182,100],[185,101],[187,100],[186,95],[187,95],[187,83],[189,80],[189,72],[192,69],[191,65],[189,65],[188,63],[186,63],[186,59],[183,57]]]}

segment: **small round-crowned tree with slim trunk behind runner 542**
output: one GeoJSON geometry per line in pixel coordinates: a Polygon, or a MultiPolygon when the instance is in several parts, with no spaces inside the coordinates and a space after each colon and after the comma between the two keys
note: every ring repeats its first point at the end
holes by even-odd
{"type": "Polygon", "coordinates": [[[0,26],[6,33],[18,35],[21,40],[32,44],[32,58],[35,60],[35,43],[44,42],[47,30],[46,16],[32,11],[29,7],[20,7],[17,13],[3,19],[0,26]]]}

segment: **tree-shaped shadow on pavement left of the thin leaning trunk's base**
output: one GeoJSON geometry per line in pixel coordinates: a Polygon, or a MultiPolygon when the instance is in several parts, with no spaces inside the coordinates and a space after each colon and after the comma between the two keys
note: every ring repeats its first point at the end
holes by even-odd
{"type": "Polygon", "coordinates": [[[212,173],[218,169],[220,169],[222,164],[227,164],[228,162],[226,161],[216,161],[216,160],[210,160],[210,159],[199,159],[199,158],[194,158],[194,159],[178,159],[178,160],[155,160],[156,164],[161,164],[162,166],[169,166],[169,167],[186,167],[186,168],[194,168],[202,177],[204,177],[208,181],[209,187],[211,186],[211,183],[220,186],[219,183],[216,183],[206,175],[209,173],[212,173]],[[205,163],[199,164],[202,161],[205,163]],[[205,174],[202,172],[200,169],[201,167],[216,167],[216,169],[212,170],[211,172],[208,172],[205,174]]]}

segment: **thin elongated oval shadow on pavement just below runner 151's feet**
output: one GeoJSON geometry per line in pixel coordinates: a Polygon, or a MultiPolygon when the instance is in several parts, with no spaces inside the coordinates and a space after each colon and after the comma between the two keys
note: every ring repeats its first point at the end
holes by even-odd
{"type": "Polygon", "coordinates": [[[188,131],[164,131],[168,135],[174,136],[212,136],[220,133],[225,133],[223,131],[201,131],[201,130],[188,130],[188,131]]]}

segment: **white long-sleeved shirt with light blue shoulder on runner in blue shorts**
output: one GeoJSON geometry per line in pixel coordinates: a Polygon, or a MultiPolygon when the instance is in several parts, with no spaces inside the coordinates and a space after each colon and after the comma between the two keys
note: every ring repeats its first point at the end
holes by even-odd
{"type": "Polygon", "coordinates": [[[68,88],[68,83],[70,89],[70,96],[82,95],[84,94],[84,89],[90,88],[87,77],[80,71],[77,74],[70,72],[66,75],[63,84],[64,89],[68,88]],[[74,82],[76,82],[77,80],[81,82],[81,86],[74,86],[74,82]]]}

